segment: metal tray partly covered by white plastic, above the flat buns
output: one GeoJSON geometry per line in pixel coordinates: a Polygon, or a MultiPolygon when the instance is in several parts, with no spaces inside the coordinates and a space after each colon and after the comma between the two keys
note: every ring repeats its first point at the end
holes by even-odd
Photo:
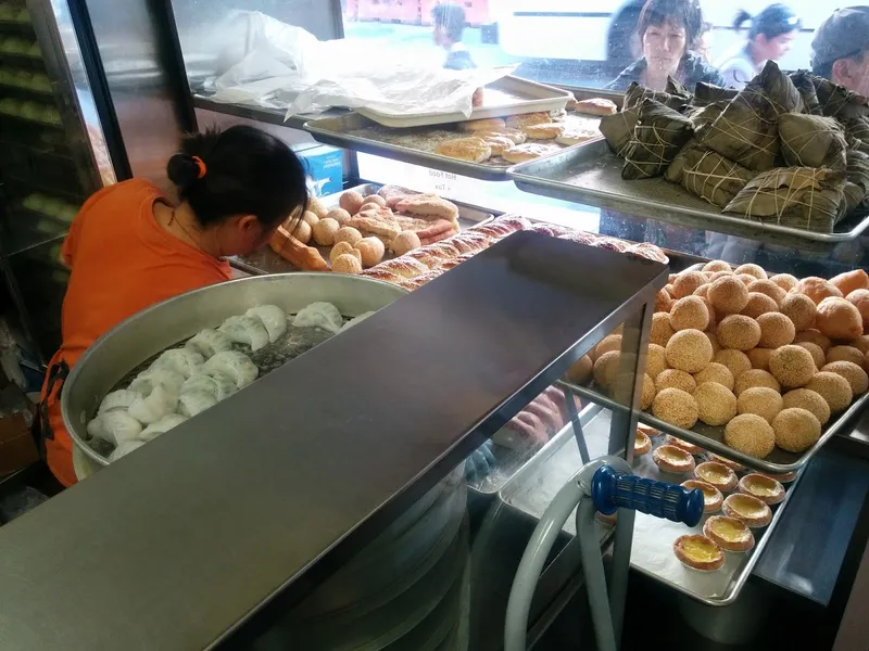
{"type": "Polygon", "coordinates": [[[470,116],[458,111],[452,113],[387,113],[360,107],[365,117],[396,129],[444,125],[466,119],[483,119],[538,111],[562,111],[570,99],[570,92],[538,81],[506,76],[489,84],[483,90],[483,105],[474,108],[470,116]]]}

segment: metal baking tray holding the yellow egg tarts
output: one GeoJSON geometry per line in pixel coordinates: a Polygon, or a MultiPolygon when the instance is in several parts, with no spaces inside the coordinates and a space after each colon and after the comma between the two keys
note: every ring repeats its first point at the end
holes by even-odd
{"type": "MultiPolygon", "coordinates": [[[[592,418],[583,426],[584,438],[592,459],[606,454],[610,417],[609,410],[599,409],[593,412],[592,418]]],[[[664,436],[656,436],[652,439],[653,449],[663,443],[663,438],[664,436]]],[[[574,433],[568,427],[553,438],[505,486],[501,493],[502,499],[514,509],[539,520],[558,489],[581,465],[582,460],[577,450],[574,433]]],[[[652,460],[651,451],[634,460],[633,470],[640,476],[671,484],[680,484],[685,480],[693,478],[691,474],[673,475],[660,472],[652,460]]],[[[638,512],[631,548],[631,566],[707,605],[720,607],[732,603],[739,597],[742,586],[748,579],[771,533],[781,520],[784,507],[798,481],[799,477],[791,484],[784,485],[785,499],[780,505],[771,507],[773,514],[769,525],[765,528],[753,529],[754,548],[745,553],[726,551],[725,565],[717,572],[689,570],[679,562],[672,552],[673,540],[684,534],[703,533],[703,524],[708,516],[704,515],[695,527],[688,527],[684,524],[638,512]]],[[[710,515],[720,514],[720,511],[710,513],[710,515]]],[[[575,535],[575,518],[568,519],[564,532],[575,535]]]]}

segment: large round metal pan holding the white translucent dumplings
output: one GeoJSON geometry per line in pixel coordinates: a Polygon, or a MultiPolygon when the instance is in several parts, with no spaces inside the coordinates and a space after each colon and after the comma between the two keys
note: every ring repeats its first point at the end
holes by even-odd
{"type": "Polygon", "coordinates": [[[158,353],[219,326],[256,305],[288,312],[326,301],[345,317],[380,309],[407,292],[386,282],[339,273],[279,273],[242,278],[175,296],[123,321],[91,345],[63,385],[63,422],[73,438],[79,480],[108,461],[85,443],[86,425],[102,398],[133,369],[158,353]]]}

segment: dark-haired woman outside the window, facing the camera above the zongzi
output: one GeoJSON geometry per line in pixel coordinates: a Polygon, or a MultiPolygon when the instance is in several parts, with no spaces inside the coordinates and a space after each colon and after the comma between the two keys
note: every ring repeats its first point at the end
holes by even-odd
{"type": "Polygon", "coordinates": [[[681,81],[689,90],[700,81],[726,86],[718,71],[689,49],[697,41],[702,26],[697,0],[648,0],[640,13],[638,28],[643,55],[606,88],[626,90],[637,81],[651,90],[664,90],[667,77],[681,81]]]}

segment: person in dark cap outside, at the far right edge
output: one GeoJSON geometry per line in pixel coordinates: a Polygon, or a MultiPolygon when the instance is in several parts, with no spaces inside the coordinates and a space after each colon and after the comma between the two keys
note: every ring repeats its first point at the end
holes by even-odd
{"type": "Polygon", "coordinates": [[[837,9],[815,31],[811,69],[869,97],[869,7],[837,9]]]}

